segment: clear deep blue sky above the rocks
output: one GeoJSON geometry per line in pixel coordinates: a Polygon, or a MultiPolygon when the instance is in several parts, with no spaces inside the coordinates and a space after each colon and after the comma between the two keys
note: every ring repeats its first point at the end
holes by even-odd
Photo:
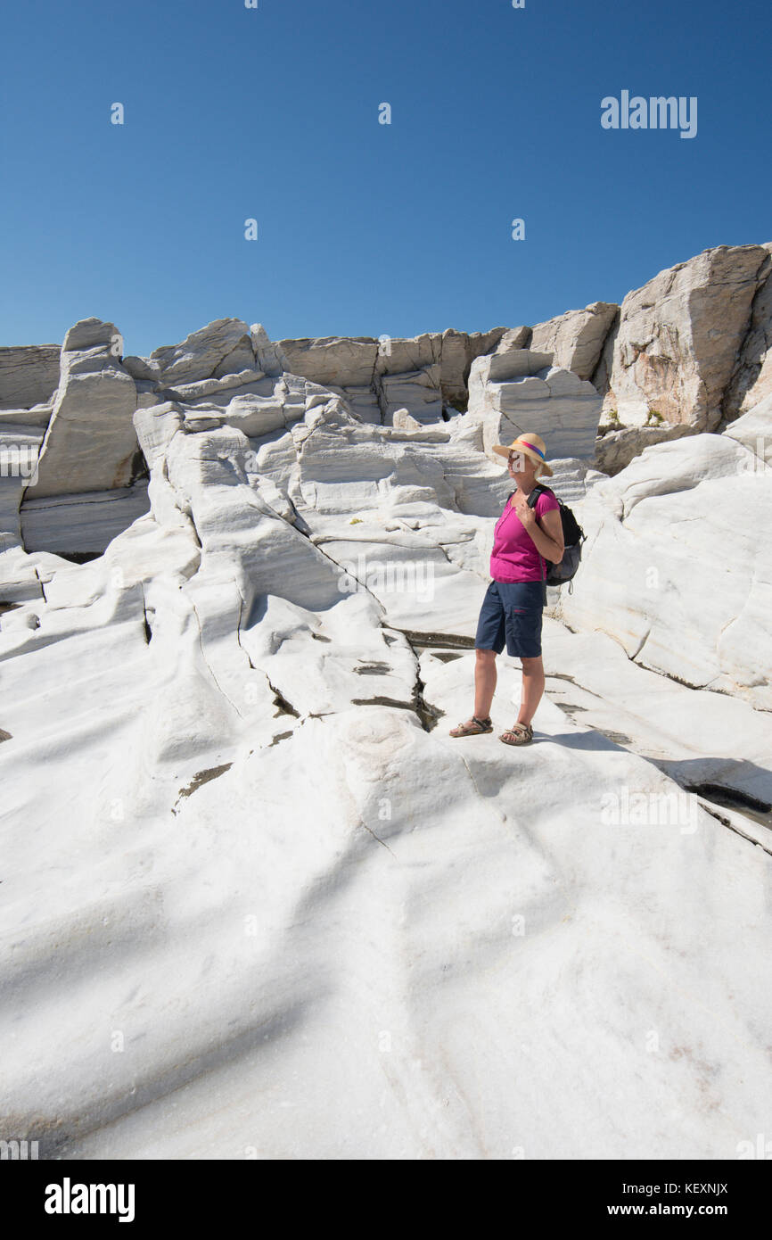
{"type": "Polygon", "coordinates": [[[0,29],[2,345],[89,315],[126,353],[229,315],[480,331],[772,241],[766,0],[36,0],[0,29]],[[622,89],[696,95],[696,136],[602,129],[622,89]]]}

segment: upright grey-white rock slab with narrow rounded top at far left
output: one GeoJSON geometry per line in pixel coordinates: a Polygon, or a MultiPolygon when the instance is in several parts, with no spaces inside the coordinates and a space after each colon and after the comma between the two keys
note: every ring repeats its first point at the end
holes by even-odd
{"type": "Polygon", "coordinates": [[[136,388],[114,353],[119,339],[115,325],[100,319],[84,319],[67,332],[37,481],[25,492],[27,498],[107,491],[131,482],[138,453],[131,422],[136,388]]]}

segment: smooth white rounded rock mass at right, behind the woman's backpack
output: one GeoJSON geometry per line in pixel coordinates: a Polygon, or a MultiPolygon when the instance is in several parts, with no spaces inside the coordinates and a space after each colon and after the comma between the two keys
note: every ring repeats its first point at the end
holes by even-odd
{"type": "Polygon", "coordinates": [[[761,458],[729,435],[657,444],[594,486],[577,517],[587,542],[558,619],[772,709],[772,470],[761,458]]]}

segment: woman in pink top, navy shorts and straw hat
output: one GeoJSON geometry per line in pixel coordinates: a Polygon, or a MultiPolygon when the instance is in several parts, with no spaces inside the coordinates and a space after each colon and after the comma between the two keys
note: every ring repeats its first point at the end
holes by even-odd
{"type": "Polygon", "coordinates": [[[537,479],[551,477],[545,461],[544,440],[530,432],[506,446],[496,444],[493,451],[507,458],[509,476],[517,490],[507,501],[496,523],[491,577],[480,610],[475,639],[475,713],[460,723],[451,737],[475,737],[493,732],[488,715],[496,689],[496,656],[507,644],[507,653],[523,665],[523,692],[517,722],[502,732],[499,740],[507,745],[527,745],[533,740],[530,720],[544,693],[542,662],[542,609],[546,601],[545,560],[559,564],[563,559],[563,525],[560,506],[554,495],[540,492],[535,508],[528,507],[528,496],[537,479]]]}

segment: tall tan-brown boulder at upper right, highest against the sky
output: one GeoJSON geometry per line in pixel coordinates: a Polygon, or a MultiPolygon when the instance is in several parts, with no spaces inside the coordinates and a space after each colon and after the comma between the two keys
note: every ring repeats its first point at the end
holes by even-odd
{"type": "Polygon", "coordinates": [[[628,293],[594,376],[603,412],[616,409],[626,425],[654,410],[715,429],[768,265],[762,246],[719,246],[628,293]]]}

